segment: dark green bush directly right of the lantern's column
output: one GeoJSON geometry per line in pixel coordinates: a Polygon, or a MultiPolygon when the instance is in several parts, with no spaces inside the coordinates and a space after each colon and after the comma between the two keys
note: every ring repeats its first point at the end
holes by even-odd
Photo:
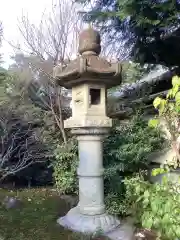
{"type": "Polygon", "coordinates": [[[123,177],[146,169],[148,154],[161,149],[163,143],[161,133],[150,129],[139,115],[127,124],[114,126],[104,141],[105,180],[116,178],[117,173],[123,177]]]}

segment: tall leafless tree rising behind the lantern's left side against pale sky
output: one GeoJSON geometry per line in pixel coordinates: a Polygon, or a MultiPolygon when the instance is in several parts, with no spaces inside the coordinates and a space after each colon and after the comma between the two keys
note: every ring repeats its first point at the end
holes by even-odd
{"type": "MultiPolygon", "coordinates": [[[[48,105],[46,107],[53,113],[64,142],[67,141],[67,137],[63,125],[62,98],[66,91],[55,85],[52,70],[53,66],[57,64],[66,65],[73,57],[77,51],[76,39],[82,25],[83,22],[79,17],[76,5],[71,4],[68,0],[52,1],[51,11],[43,13],[39,25],[33,24],[25,15],[19,20],[18,25],[28,54],[27,57],[22,56],[24,49],[21,46],[16,47],[18,49],[16,63],[18,61],[18,68],[21,69],[21,60],[23,59],[23,64],[26,65],[23,66],[23,69],[26,69],[26,71],[23,70],[23,73],[31,78],[30,82],[34,81],[33,87],[31,84],[31,90],[35,90],[34,86],[36,85],[36,90],[39,86],[39,90],[43,88],[43,92],[48,95],[50,101],[48,104],[47,102],[44,104],[48,105]],[[18,57],[20,59],[17,59],[18,57]],[[54,104],[54,100],[56,104],[54,104]],[[56,107],[54,108],[54,106],[56,107]]],[[[12,67],[17,69],[17,66],[12,67]]],[[[40,95],[38,96],[40,97],[40,95]]],[[[42,97],[41,100],[43,101],[42,97]]]]}

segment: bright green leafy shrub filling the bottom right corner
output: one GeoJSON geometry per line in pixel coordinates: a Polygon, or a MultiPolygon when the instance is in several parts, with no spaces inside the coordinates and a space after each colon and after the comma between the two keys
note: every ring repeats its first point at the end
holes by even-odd
{"type": "Polygon", "coordinates": [[[155,230],[160,239],[180,239],[180,184],[164,177],[151,184],[142,176],[126,179],[126,199],[121,205],[142,227],[155,230]]]}

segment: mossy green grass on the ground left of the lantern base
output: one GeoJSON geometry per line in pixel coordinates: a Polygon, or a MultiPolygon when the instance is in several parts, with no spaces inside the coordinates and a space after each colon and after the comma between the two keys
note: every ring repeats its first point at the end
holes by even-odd
{"type": "MultiPolygon", "coordinates": [[[[56,221],[68,211],[65,201],[51,189],[7,191],[0,189],[0,201],[5,196],[17,196],[23,201],[20,209],[0,206],[0,236],[4,240],[84,240],[59,226],[56,221]]],[[[102,238],[101,238],[102,239],[102,238]]],[[[1,237],[0,237],[1,240],[1,237]]]]}

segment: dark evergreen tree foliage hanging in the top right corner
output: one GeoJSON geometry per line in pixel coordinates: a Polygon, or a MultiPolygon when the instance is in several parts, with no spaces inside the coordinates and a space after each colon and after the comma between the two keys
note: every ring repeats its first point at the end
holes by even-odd
{"type": "MultiPolygon", "coordinates": [[[[179,0],[77,0],[88,5],[94,21],[111,44],[124,43],[124,55],[141,63],[180,64],[179,0]]],[[[120,57],[122,46],[119,47],[120,57]]]]}

